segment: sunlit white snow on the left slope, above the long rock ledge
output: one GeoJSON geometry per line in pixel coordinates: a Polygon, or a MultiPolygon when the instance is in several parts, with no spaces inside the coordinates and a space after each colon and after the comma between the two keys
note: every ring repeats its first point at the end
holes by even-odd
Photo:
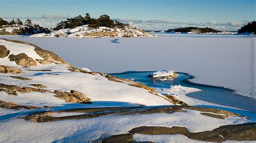
{"type": "MultiPolygon", "coordinates": [[[[34,47],[17,44],[14,42],[8,42],[5,40],[0,40],[1,45],[5,45],[7,49],[10,50],[10,54],[25,53],[32,59],[43,59],[41,56],[37,55],[33,50],[34,47]]],[[[38,66],[31,66],[30,69],[50,69],[50,72],[45,71],[28,71],[22,66],[17,66],[15,62],[9,61],[8,57],[0,58],[0,65],[12,66],[22,69],[24,73],[18,76],[31,78],[31,81],[21,81],[15,78],[11,78],[8,75],[0,73],[1,79],[0,83],[5,83],[9,85],[19,85],[23,87],[28,87],[29,84],[37,83],[46,85],[47,90],[54,91],[70,91],[76,90],[82,92],[87,97],[92,99],[92,102],[112,102],[116,105],[116,102],[127,104],[137,104],[137,105],[172,105],[170,102],[166,101],[164,98],[156,96],[148,92],[148,90],[143,88],[132,87],[128,85],[129,83],[119,83],[107,80],[107,78],[96,74],[84,74],[78,72],[71,72],[68,70],[67,65],[55,65],[54,63],[50,65],[41,65],[37,63],[38,66]],[[58,75],[49,75],[44,73],[57,73],[58,75]],[[18,82],[17,82],[18,81],[18,82]]],[[[84,68],[89,70],[88,68],[84,68]]],[[[53,94],[42,94],[35,92],[29,92],[26,94],[18,93],[18,96],[8,96],[5,92],[0,92],[0,99],[4,101],[10,101],[22,105],[33,105],[33,106],[57,106],[62,105],[65,102],[59,98],[53,96],[53,94]]],[[[121,104],[122,105],[122,104],[121,104]]]]}

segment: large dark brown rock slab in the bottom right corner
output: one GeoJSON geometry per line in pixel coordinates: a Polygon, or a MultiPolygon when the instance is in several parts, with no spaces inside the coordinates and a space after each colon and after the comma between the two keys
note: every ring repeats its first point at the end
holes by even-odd
{"type": "Polygon", "coordinates": [[[215,128],[212,131],[191,133],[185,127],[161,127],[161,126],[141,126],[133,128],[130,133],[138,134],[183,134],[193,140],[220,142],[226,140],[256,140],[256,123],[225,125],[215,128]]]}

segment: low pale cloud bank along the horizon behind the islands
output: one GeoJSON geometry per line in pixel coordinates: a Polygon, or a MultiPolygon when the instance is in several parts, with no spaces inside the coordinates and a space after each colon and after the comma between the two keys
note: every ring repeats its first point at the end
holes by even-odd
{"type": "MultiPolygon", "coordinates": [[[[31,19],[33,23],[40,24],[44,27],[55,27],[58,22],[61,20],[65,20],[66,18],[71,18],[73,16],[70,15],[42,15],[39,17],[19,17],[23,21],[26,19],[31,19]]],[[[18,17],[3,17],[6,20],[11,20],[12,18],[16,19],[18,17]]],[[[219,23],[216,21],[211,22],[178,22],[172,19],[160,20],[160,19],[130,19],[130,18],[114,18],[113,20],[117,20],[122,23],[129,23],[131,26],[142,28],[144,30],[168,30],[170,28],[179,28],[179,27],[187,27],[187,26],[195,26],[195,27],[211,27],[216,30],[226,30],[226,31],[237,31],[242,25],[248,23],[248,20],[243,20],[242,22],[226,22],[219,23]]]]}

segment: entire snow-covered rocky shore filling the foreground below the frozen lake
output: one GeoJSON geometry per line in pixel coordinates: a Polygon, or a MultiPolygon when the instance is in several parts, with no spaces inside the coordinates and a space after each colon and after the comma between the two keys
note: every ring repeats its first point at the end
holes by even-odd
{"type": "Polygon", "coordinates": [[[36,45],[0,39],[0,142],[255,140],[253,120],[170,95],[194,91],[177,86],[161,90],[164,96],[73,67],[36,45]]]}

